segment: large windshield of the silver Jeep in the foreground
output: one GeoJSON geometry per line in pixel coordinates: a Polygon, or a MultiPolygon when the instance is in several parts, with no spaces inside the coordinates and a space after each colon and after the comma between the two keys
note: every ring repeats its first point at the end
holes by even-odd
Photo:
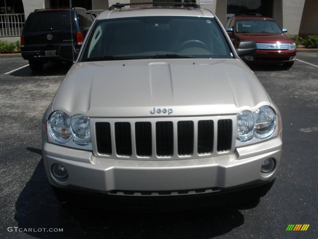
{"type": "Polygon", "coordinates": [[[214,18],[134,17],[99,20],[83,61],[233,58],[214,18]]]}

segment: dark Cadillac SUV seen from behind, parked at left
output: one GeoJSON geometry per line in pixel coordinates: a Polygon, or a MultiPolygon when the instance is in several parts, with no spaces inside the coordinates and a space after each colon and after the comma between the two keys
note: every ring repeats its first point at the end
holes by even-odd
{"type": "Polygon", "coordinates": [[[78,51],[95,17],[84,8],[34,10],[22,31],[22,57],[32,71],[40,71],[49,60],[61,61],[59,46],[73,41],[78,51]]]}

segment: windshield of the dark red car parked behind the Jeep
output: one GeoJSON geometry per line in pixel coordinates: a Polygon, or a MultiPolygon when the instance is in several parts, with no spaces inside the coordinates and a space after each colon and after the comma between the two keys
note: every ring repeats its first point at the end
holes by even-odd
{"type": "Polygon", "coordinates": [[[266,19],[242,19],[236,20],[237,33],[281,33],[279,25],[275,21],[266,19]]]}

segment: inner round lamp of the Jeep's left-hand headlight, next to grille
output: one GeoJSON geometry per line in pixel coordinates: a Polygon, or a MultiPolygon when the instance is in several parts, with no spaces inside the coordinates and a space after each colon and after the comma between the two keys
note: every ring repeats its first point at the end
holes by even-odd
{"type": "Polygon", "coordinates": [[[74,143],[89,144],[91,142],[91,129],[89,118],[83,114],[73,116],[71,121],[71,131],[74,135],[74,143]]]}

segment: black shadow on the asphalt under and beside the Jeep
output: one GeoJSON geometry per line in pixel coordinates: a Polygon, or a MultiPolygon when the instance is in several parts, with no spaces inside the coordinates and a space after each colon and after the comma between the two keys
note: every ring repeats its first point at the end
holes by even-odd
{"type": "MultiPolygon", "coordinates": [[[[27,148],[42,155],[42,150],[27,148]]],[[[87,202],[90,204],[91,202],[87,202]]],[[[246,208],[258,202],[246,204],[246,208]]],[[[123,205],[125,206],[125,205],[123,205]]],[[[63,205],[46,178],[43,157],[19,195],[15,220],[19,228],[37,238],[212,238],[244,223],[241,207],[205,211],[127,213],[63,205]],[[63,228],[63,232],[38,232],[37,228],[63,228]]],[[[111,207],[111,205],[109,205],[111,207]]]]}

